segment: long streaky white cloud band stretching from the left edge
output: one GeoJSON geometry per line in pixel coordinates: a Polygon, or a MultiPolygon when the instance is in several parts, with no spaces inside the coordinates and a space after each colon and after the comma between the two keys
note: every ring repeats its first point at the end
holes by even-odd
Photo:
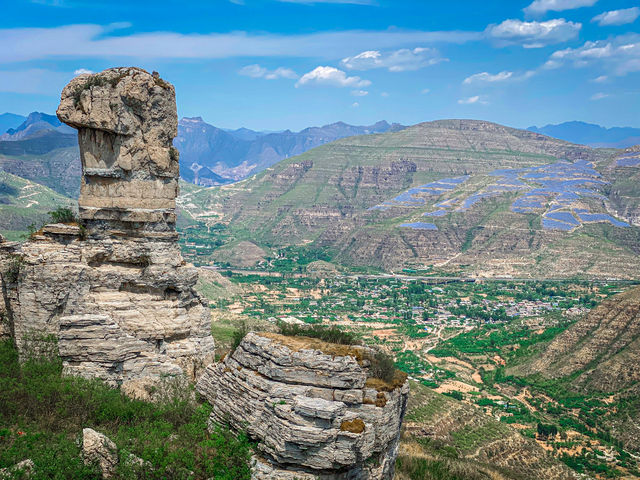
{"type": "Polygon", "coordinates": [[[110,35],[118,25],[66,25],[0,29],[0,63],[55,57],[196,59],[232,57],[342,58],[354,51],[386,50],[407,44],[481,40],[479,32],[345,30],[298,35],[247,32],[182,34],[146,32],[110,35]]]}

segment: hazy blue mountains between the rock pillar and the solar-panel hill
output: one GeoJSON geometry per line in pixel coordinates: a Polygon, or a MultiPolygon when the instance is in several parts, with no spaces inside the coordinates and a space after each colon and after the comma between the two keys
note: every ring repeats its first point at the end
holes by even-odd
{"type": "Polygon", "coordinates": [[[337,122],[299,132],[268,133],[246,128],[223,130],[195,117],[180,120],[174,144],[180,150],[182,177],[191,183],[212,186],[241,180],[280,160],[340,138],[404,128],[386,121],[369,126],[337,122]]]}

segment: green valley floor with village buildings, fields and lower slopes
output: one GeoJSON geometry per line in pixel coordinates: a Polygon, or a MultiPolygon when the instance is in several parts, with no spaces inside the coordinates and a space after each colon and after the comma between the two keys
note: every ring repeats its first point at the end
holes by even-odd
{"type": "MultiPolygon", "coordinates": [[[[206,270],[199,288],[210,298],[217,344],[230,345],[242,325],[338,326],[392,354],[409,375],[402,451],[410,458],[449,462],[461,471],[491,465],[500,478],[540,478],[528,475],[543,470],[545,478],[569,478],[549,463],[550,454],[592,478],[640,478],[633,427],[622,413],[638,406],[632,391],[585,391],[570,373],[548,379],[556,368],[542,368],[538,360],[620,295],[637,300],[637,288],[607,281],[383,277],[322,263],[309,262],[302,272],[206,270]],[[321,276],[314,273],[319,268],[321,276]],[[520,460],[510,460],[513,455],[520,460]]],[[[573,348],[562,344],[567,352],[573,348]]],[[[469,475],[461,478],[474,478],[469,475]]]]}

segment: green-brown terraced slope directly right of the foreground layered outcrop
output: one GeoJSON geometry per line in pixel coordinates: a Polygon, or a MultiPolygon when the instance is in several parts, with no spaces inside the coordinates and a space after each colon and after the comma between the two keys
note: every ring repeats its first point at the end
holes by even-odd
{"type": "Polygon", "coordinates": [[[578,478],[511,426],[478,408],[412,383],[397,465],[400,478],[412,478],[411,466],[419,459],[423,459],[426,471],[441,464],[443,473],[451,475],[446,478],[578,478]]]}

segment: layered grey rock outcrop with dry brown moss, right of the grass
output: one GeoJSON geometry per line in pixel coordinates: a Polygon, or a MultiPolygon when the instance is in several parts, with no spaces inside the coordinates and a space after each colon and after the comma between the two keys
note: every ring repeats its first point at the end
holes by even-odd
{"type": "Polygon", "coordinates": [[[249,333],[197,390],[210,421],[246,430],[258,444],[253,478],[393,478],[409,393],[406,376],[371,378],[366,347],[249,333]]]}

